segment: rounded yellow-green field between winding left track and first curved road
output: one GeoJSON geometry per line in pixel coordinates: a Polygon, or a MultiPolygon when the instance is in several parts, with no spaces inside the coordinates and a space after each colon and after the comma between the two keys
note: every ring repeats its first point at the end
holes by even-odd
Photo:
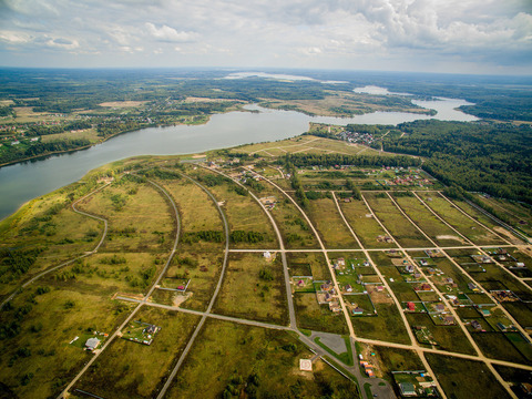
{"type": "Polygon", "coordinates": [[[162,195],[149,183],[122,178],[82,201],[79,208],[109,221],[101,250],[167,250],[173,243],[175,221],[162,195]]]}

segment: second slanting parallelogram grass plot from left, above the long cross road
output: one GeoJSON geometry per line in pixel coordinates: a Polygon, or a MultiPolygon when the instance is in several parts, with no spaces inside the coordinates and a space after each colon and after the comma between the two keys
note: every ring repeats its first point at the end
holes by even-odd
{"type": "Polygon", "coordinates": [[[431,247],[432,244],[408,221],[386,193],[364,193],[369,206],[403,247],[431,247]]]}

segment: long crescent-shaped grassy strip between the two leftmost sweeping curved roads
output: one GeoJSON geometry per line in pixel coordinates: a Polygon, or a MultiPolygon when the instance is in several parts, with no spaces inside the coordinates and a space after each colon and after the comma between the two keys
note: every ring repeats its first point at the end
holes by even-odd
{"type": "Polygon", "coordinates": [[[177,252],[154,291],[153,299],[166,305],[205,310],[222,267],[225,243],[222,218],[211,197],[187,178],[161,182],[177,204],[181,237],[177,252]],[[186,290],[177,282],[187,282],[186,290]]]}

